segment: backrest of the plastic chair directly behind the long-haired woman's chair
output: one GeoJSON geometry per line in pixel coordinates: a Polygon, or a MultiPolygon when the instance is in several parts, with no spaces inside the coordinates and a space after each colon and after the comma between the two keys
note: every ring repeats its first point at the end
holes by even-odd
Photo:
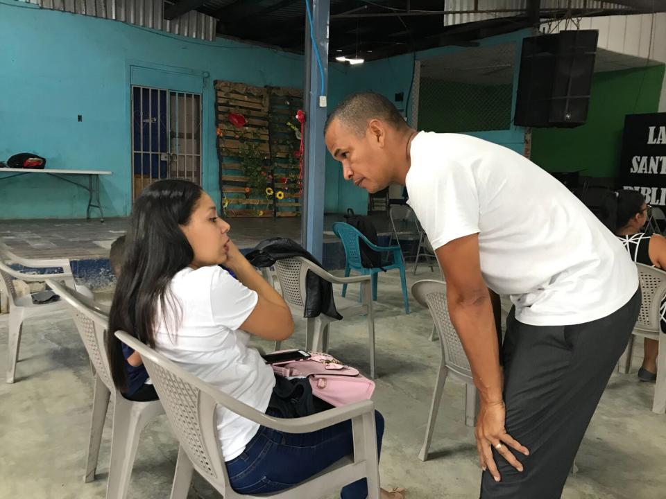
{"type": "Polygon", "coordinates": [[[79,299],[80,294],[62,283],[46,279],[46,283],[60,298],[65,300],[74,318],[76,329],[83,340],[88,357],[95,368],[97,376],[114,393],[116,388],[111,378],[111,369],[106,352],[105,331],[108,327],[109,317],[99,310],[85,304],[79,299]]]}

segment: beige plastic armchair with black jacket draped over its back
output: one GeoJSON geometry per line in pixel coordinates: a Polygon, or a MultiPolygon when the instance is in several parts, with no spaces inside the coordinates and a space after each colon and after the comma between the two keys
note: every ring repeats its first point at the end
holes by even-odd
{"type": "MultiPolygon", "coordinates": [[[[314,272],[325,281],[335,284],[361,283],[361,295],[363,301],[360,305],[339,308],[338,312],[343,317],[355,317],[366,315],[368,319],[368,336],[370,338],[370,377],[375,378],[375,313],[373,309],[372,283],[370,275],[359,275],[353,277],[336,277],[329,274],[323,268],[318,267],[311,261],[296,256],[290,259],[282,259],[275,262],[275,272],[278,275],[280,290],[284,301],[291,308],[293,315],[303,317],[305,314],[305,300],[307,296],[306,278],[307,272],[314,272]]],[[[329,325],[336,321],[323,313],[317,317],[306,318],[307,332],[305,335],[305,349],[307,351],[328,351],[329,325]]],[[[275,342],[275,349],[280,349],[280,342],[275,342]]]]}

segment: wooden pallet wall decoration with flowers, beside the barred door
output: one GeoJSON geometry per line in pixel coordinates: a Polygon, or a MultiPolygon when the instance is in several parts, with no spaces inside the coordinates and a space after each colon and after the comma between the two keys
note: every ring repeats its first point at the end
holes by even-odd
{"type": "Polygon", "coordinates": [[[300,128],[296,111],[302,109],[302,91],[216,80],[215,95],[224,215],[300,216],[300,168],[294,156],[300,140],[293,126],[300,128]],[[232,123],[231,114],[243,116],[244,125],[232,123]],[[265,188],[257,173],[265,174],[265,188]]]}

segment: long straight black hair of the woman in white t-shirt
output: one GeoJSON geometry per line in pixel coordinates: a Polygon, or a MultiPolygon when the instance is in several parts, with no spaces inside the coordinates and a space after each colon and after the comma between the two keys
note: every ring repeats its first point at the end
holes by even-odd
{"type": "Polygon", "coordinates": [[[177,310],[169,295],[169,283],[194,259],[180,225],[189,222],[201,188],[185,180],[161,180],[139,195],[132,209],[125,254],[113,295],[106,344],[114,384],[127,389],[125,358],[114,336],[127,331],[155,347],[155,313],[177,310]]]}

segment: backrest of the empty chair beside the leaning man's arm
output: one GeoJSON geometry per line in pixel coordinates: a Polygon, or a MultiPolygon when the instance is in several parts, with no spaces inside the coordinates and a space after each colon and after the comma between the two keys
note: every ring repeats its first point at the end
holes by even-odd
{"type": "Polygon", "coordinates": [[[439,333],[442,355],[446,367],[456,371],[461,376],[472,379],[470,361],[467,358],[463,344],[451,322],[446,301],[446,283],[426,279],[414,283],[411,293],[421,305],[427,306],[430,315],[439,333]]]}

